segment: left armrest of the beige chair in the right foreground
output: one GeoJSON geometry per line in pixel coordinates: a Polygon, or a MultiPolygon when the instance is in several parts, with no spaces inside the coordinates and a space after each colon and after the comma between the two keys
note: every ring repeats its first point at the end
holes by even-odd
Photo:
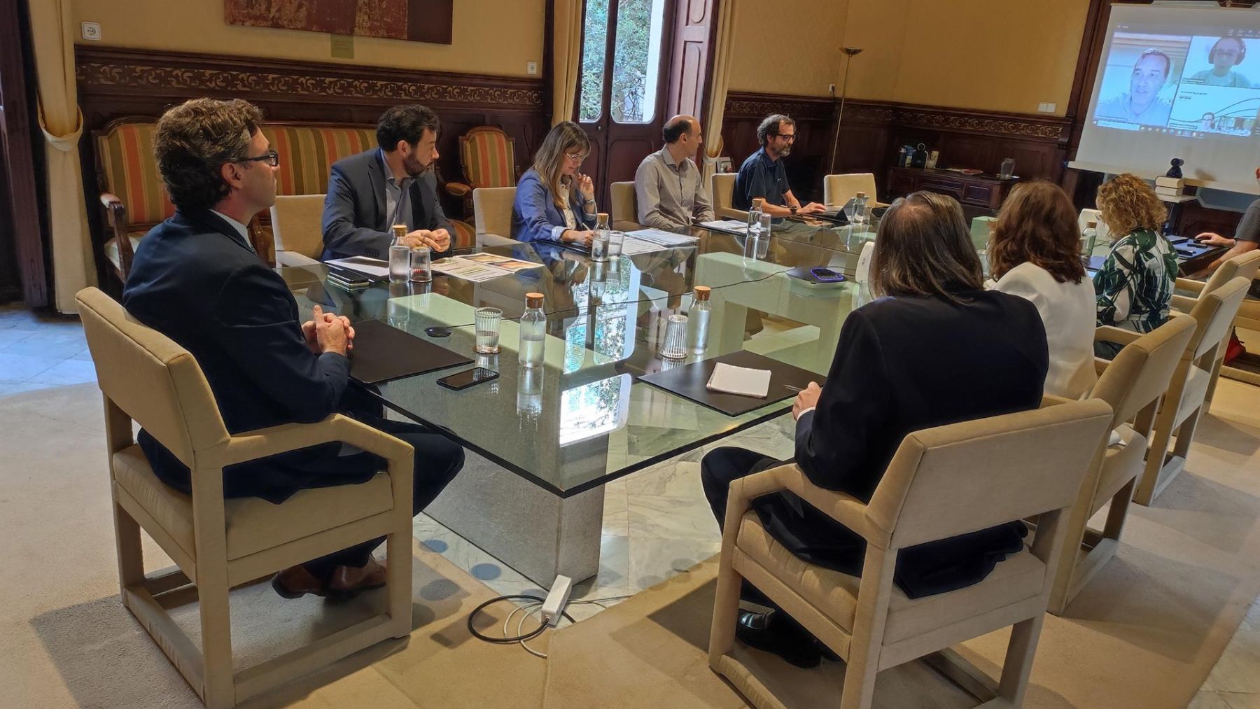
{"type": "Polygon", "coordinates": [[[781,465],[731,482],[731,494],[727,499],[727,523],[732,521],[730,510],[735,509],[738,516],[742,516],[752,505],[752,500],[781,490],[788,490],[818,508],[823,514],[862,535],[868,544],[887,549],[892,543],[892,533],[879,529],[867,516],[864,502],[852,495],[824,490],[814,485],[795,463],[781,465]]]}

